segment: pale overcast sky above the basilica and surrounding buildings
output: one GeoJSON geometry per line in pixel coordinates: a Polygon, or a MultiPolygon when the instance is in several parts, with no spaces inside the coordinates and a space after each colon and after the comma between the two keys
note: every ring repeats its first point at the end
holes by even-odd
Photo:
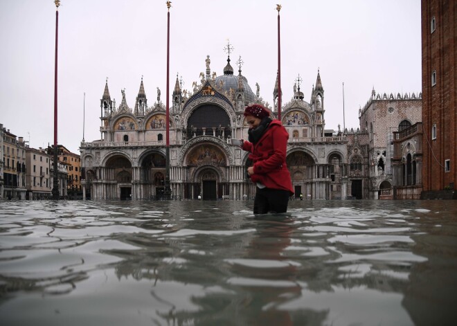
{"type": "MultiPolygon", "coordinates": [[[[278,69],[280,0],[174,0],[170,9],[170,96],[177,73],[191,89],[205,71],[231,64],[270,104],[278,69]]],[[[30,147],[53,144],[55,5],[0,1],[0,123],[30,147]]],[[[359,127],[359,107],[377,93],[421,91],[420,0],[283,0],[280,11],[283,104],[298,75],[310,101],[320,69],[325,129],[359,127]]],[[[79,153],[100,139],[100,99],[108,79],[116,106],[125,88],[133,108],[141,76],[148,105],[166,93],[165,0],[61,0],[58,45],[58,143],[79,153]],[[84,101],[85,93],[85,101],[84,101]],[[85,103],[85,105],[84,105],[85,103]]],[[[171,101],[170,101],[171,103],[171,101]]]]}

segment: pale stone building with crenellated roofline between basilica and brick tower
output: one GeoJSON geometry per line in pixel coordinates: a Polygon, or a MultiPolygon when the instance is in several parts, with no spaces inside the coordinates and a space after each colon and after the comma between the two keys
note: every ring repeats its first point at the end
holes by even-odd
{"type": "Polygon", "coordinates": [[[402,132],[420,122],[421,118],[422,93],[397,93],[394,96],[393,93],[376,94],[373,89],[370,99],[359,110],[361,132],[348,134],[349,181],[353,197],[394,198],[393,133],[402,132]]]}

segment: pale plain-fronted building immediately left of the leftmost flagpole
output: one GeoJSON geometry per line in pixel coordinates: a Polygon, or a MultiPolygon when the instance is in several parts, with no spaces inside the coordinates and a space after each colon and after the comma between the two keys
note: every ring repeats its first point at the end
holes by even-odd
{"type": "Polygon", "coordinates": [[[26,147],[26,166],[26,199],[51,198],[51,155],[41,147],[26,147]]]}

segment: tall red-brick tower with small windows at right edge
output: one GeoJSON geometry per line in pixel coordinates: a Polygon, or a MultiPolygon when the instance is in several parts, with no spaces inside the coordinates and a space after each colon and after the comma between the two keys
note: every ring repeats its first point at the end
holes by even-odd
{"type": "Polygon", "coordinates": [[[422,0],[422,198],[457,199],[457,2],[422,0]]]}

